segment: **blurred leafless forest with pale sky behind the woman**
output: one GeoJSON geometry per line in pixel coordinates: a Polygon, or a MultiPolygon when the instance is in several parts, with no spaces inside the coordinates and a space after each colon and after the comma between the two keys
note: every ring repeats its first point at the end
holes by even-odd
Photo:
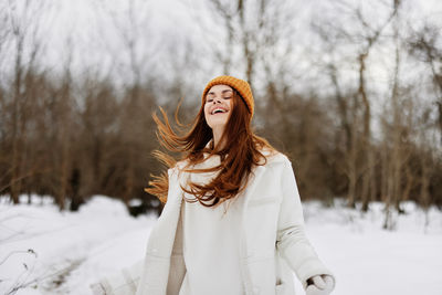
{"type": "MultiPolygon", "coordinates": [[[[250,82],[255,131],[303,200],[442,208],[442,3],[418,0],[0,2],[0,198],[94,194],[133,214],[164,169],[151,118],[191,123],[206,83],[250,82]]],[[[29,198],[30,200],[31,198],[29,198]]]]}

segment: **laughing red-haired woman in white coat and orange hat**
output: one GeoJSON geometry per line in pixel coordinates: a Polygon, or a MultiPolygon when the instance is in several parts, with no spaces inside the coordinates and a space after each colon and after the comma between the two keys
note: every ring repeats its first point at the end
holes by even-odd
{"type": "Polygon", "coordinates": [[[219,76],[183,136],[165,113],[164,123],[154,116],[162,146],[185,157],[175,162],[157,152],[170,168],[147,191],[166,206],[140,277],[134,271],[126,283],[103,281],[106,294],[131,294],[136,286],[136,295],[293,295],[292,271],[306,294],[332,293],[335,278],[304,233],[292,165],[253,134],[253,108],[249,83],[219,76]]]}

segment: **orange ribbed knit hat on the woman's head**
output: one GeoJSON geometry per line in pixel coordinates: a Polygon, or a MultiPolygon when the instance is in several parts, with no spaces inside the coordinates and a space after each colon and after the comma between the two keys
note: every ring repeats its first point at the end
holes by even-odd
{"type": "Polygon", "coordinates": [[[246,81],[232,77],[232,76],[218,76],[213,80],[211,80],[204,91],[202,92],[202,104],[206,102],[206,94],[210,91],[210,88],[214,85],[228,85],[235,91],[238,91],[243,98],[245,105],[248,106],[249,113],[251,114],[251,118],[253,117],[253,108],[254,108],[254,102],[253,102],[253,94],[252,89],[250,88],[250,85],[246,81]]]}

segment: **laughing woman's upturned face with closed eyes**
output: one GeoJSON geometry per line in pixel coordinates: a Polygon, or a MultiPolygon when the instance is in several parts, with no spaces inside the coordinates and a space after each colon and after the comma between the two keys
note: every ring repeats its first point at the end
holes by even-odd
{"type": "Polygon", "coordinates": [[[233,89],[228,85],[214,85],[206,95],[204,117],[210,128],[224,128],[233,109],[233,89]]]}

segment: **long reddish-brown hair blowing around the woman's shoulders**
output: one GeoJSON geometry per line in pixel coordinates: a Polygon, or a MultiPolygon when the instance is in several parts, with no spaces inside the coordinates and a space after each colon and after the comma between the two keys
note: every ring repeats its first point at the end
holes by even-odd
{"type": "MultiPolygon", "coordinates": [[[[191,124],[191,128],[186,131],[185,125],[178,119],[179,106],[175,113],[175,120],[180,129],[176,133],[169,124],[166,112],[160,107],[164,122],[156,114],[152,115],[157,124],[157,137],[160,145],[169,151],[180,152],[181,160],[186,162],[183,171],[204,173],[218,171],[217,176],[209,183],[194,183],[188,181],[181,189],[192,194],[193,199],[186,199],[189,202],[200,202],[206,207],[213,207],[229,199],[236,197],[246,186],[249,176],[253,166],[265,165],[266,158],[262,150],[275,149],[262,137],[253,134],[251,128],[251,114],[242,99],[241,95],[233,89],[232,110],[230,112],[224,133],[220,143],[224,141],[222,149],[211,147],[207,148],[212,139],[212,129],[206,122],[204,104],[191,124]],[[194,169],[193,166],[204,160],[204,152],[209,156],[219,155],[221,164],[206,169],[194,169]]],[[[154,156],[165,164],[168,168],[176,166],[177,160],[160,150],[155,150],[154,156]]],[[[149,188],[145,191],[156,196],[162,203],[167,201],[168,193],[168,173],[164,171],[159,176],[152,176],[149,181],[149,188]]]]}

